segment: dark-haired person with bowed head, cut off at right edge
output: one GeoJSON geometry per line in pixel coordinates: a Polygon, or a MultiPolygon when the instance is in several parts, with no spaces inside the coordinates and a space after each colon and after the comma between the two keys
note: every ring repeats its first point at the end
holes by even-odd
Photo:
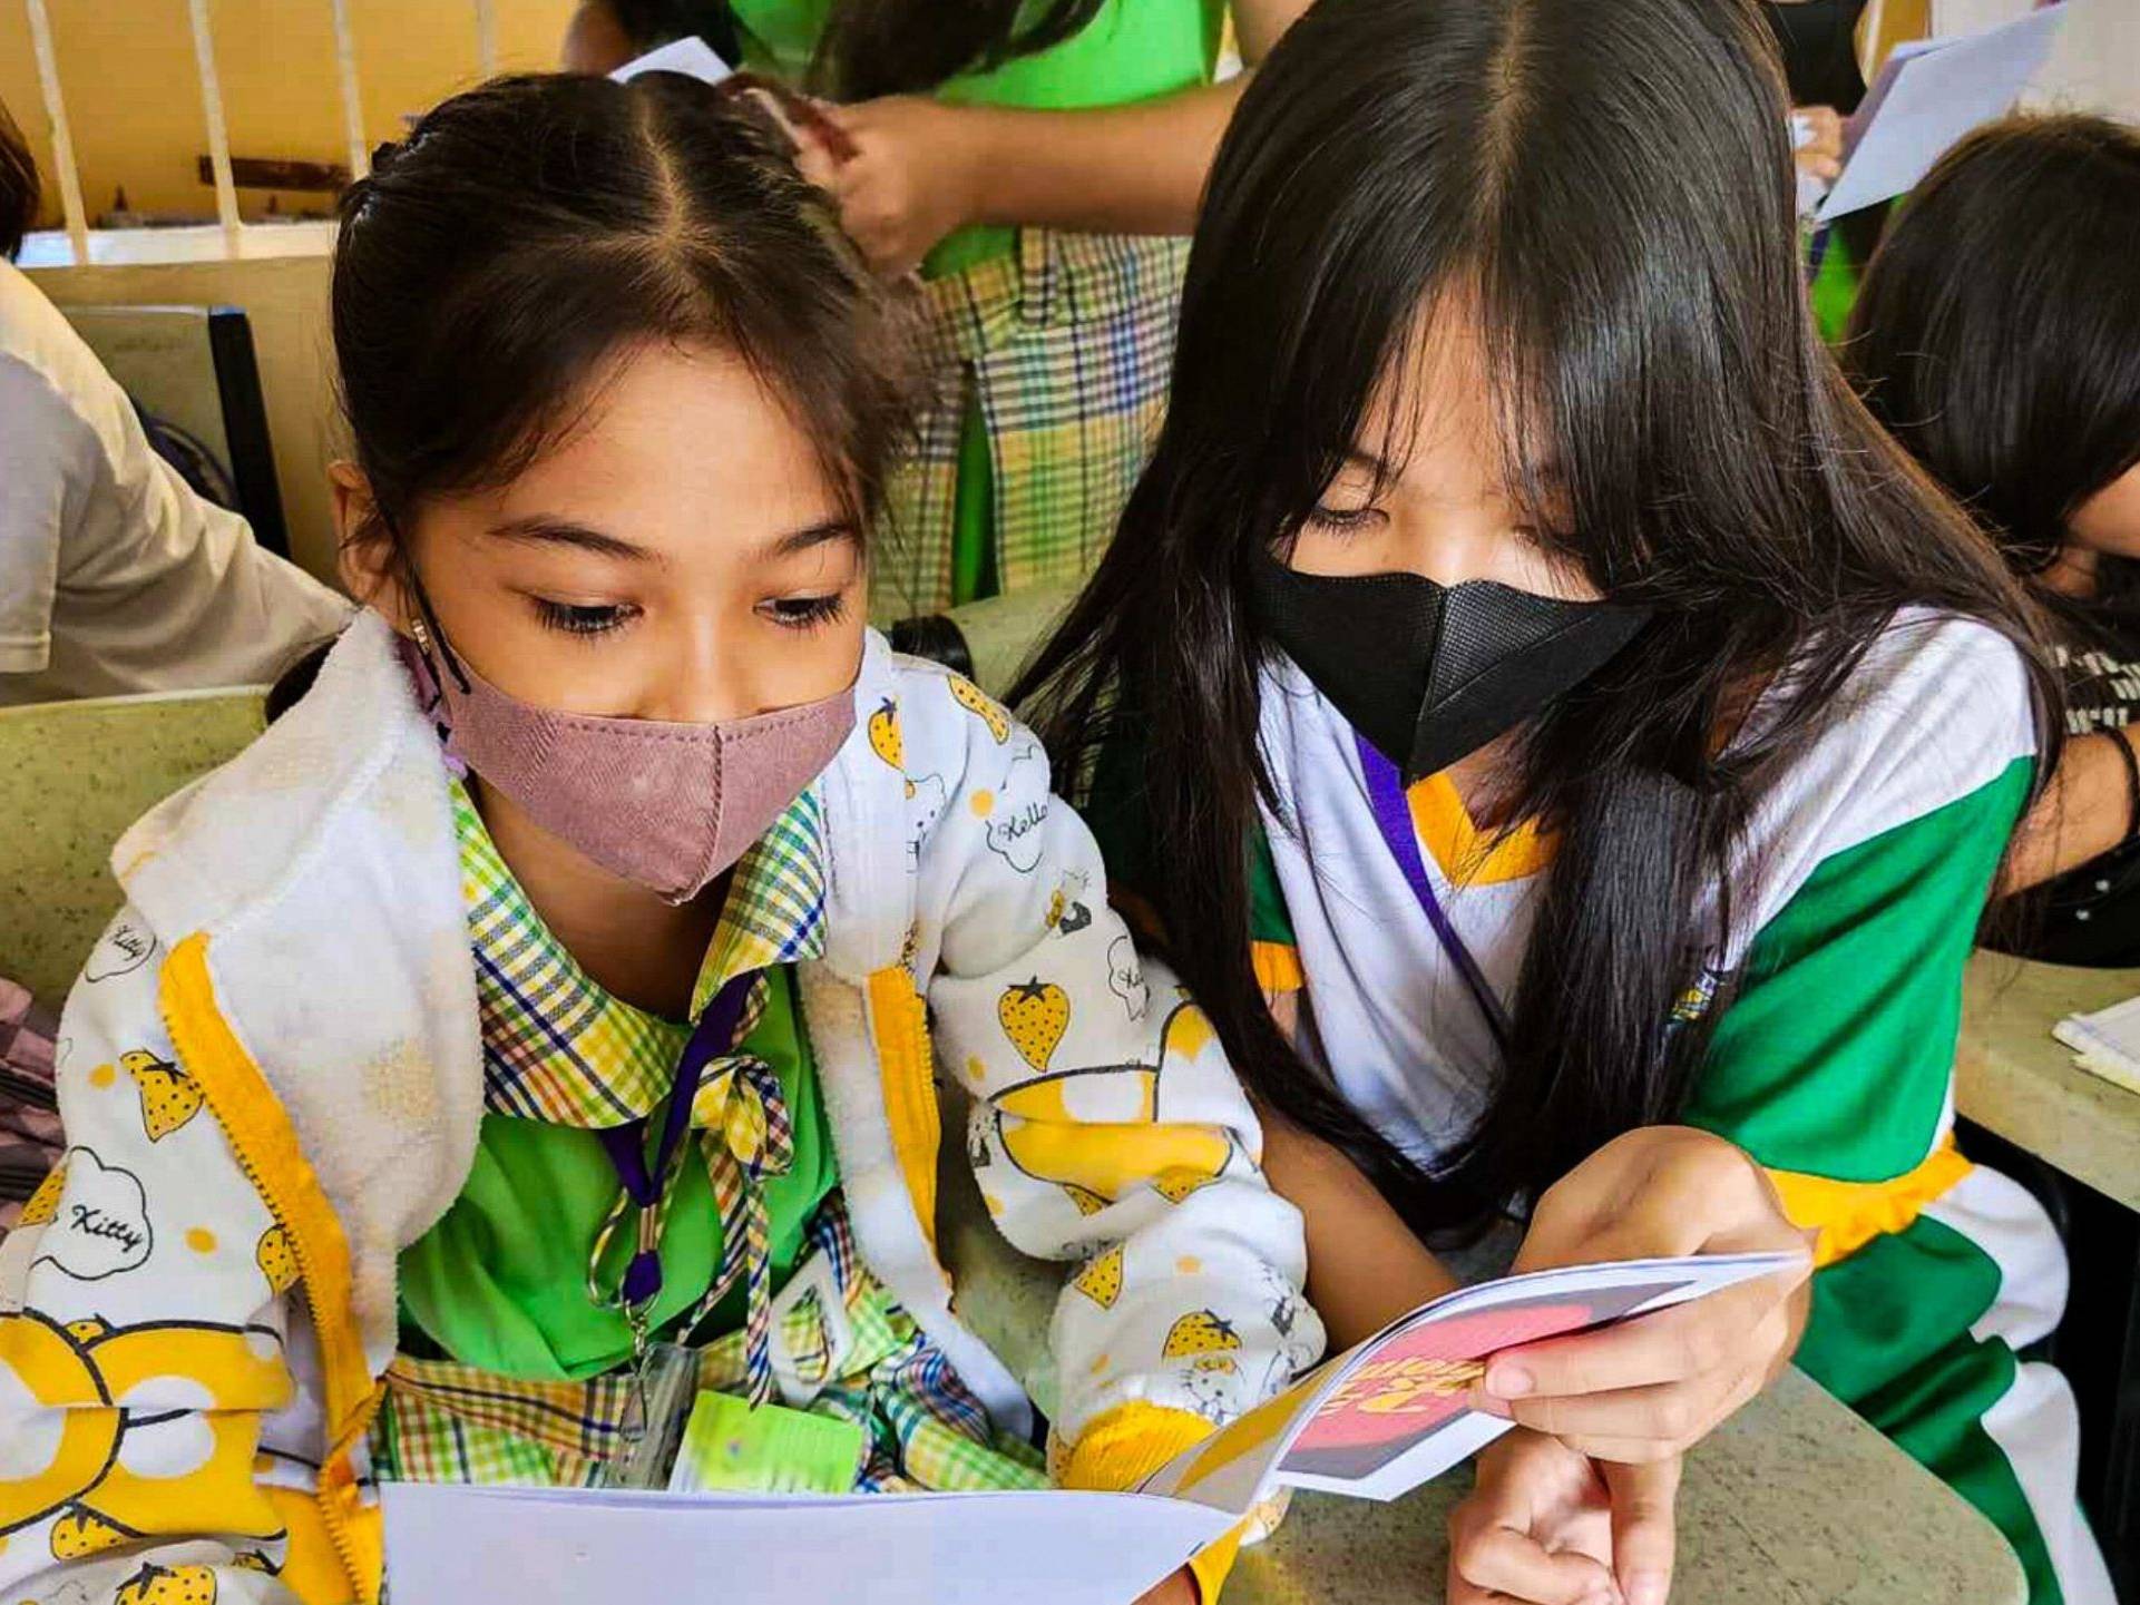
{"type": "Polygon", "coordinates": [[[2035,959],[2140,963],[2140,133],[2014,118],[1917,186],[1847,347],[1866,402],[1990,531],[2065,666],[2059,779],[2005,886],[2035,959]]]}

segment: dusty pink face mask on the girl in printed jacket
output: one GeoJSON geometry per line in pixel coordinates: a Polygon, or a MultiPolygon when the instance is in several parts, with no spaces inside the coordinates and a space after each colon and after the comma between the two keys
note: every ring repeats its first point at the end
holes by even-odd
{"type": "Polygon", "coordinates": [[[422,621],[407,651],[447,753],[550,835],[670,903],[734,865],[854,730],[854,691],[715,723],[537,708],[458,655],[439,676],[422,621]]]}

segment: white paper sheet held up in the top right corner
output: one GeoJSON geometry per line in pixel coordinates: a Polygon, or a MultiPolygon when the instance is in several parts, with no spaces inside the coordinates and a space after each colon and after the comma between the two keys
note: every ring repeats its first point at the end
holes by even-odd
{"type": "Polygon", "coordinates": [[[1843,175],[1821,223],[1902,195],[1965,133],[2005,116],[2050,56],[2065,6],[2044,6],[1962,39],[1900,45],[1845,135],[1843,175]]]}

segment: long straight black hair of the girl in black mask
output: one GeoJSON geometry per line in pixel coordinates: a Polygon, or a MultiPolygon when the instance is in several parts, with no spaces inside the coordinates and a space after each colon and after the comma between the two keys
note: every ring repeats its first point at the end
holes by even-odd
{"type": "Polygon", "coordinates": [[[1748,811],[1907,603],[2007,633],[2054,728],[2029,603],[1813,327],[1746,0],[1325,0],[1233,118],[1153,462],[1019,698],[1072,773],[1136,745],[1141,890],[1190,991],[1256,1094],[1427,1228],[1682,1106],[1721,1010],[1673,1027],[1673,1006],[1731,929],[1748,811]],[[1558,850],[1502,1083],[1430,1181],[1303,1066],[1250,972],[1250,832],[1286,802],[1243,597],[1451,308],[1485,342],[1509,484],[1601,593],[1656,612],[1519,743],[1509,817],[1558,850]]]}

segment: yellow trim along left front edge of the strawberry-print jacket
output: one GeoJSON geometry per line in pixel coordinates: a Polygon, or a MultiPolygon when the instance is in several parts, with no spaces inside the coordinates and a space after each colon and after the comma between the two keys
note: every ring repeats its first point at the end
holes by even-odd
{"type": "MultiPolygon", "coordinates": [[[[289,1239],[319,1335],[327,1455],[319,1472],[317,1507],[332,1560],[317,1554],[302,1558],[297,1573],[319,1579],[315,1586],[325,1590],[306,1594],[306,1605],[340,1605],[349,1599],[370,1605],[379,1599],[385,1573],[385,1530],[379,1507],[357,1487],[353,1453],[370,1432],[379,1389],[349,1305],[351,1267],[342,1222],[304,1158],[282,1100],[223,1019],[203,933],[171,950],[160,974],[160,1002],[180,1064],[199,1083],[238,1164],[289,1239]]],[[[293,1543],[300,1532],[293,1524],[293,1543]]]]}

